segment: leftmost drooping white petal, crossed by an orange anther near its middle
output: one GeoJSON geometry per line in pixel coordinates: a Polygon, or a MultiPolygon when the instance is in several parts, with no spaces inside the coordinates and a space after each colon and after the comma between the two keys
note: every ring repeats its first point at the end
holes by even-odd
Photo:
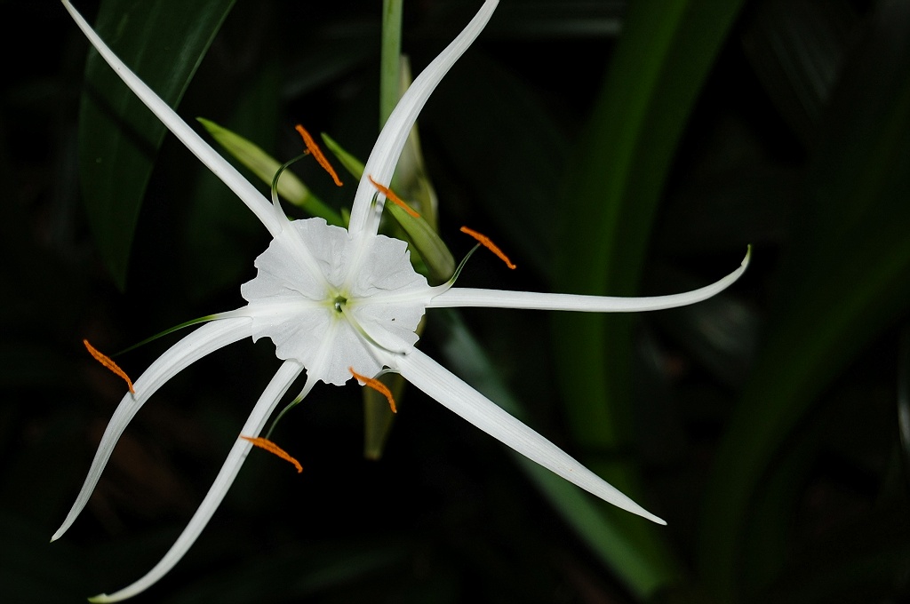
{"type": "Polygon", "coordinates": [[[88,476],[83,483],[82,488],[76,496],[76,503],[69,510],[66,519],[60,528],[57,528],[51,541],[59,539],[66,532],[76,517],[86,507],[88,498],[95,490],[98,478],[101,478],[101,472],[104,471],[107,459],[114,452],[114,446],[120,435],[126,429],[126,425],[136,416],[136,413],[146,403],[158,388],[161,388],[168,379],[174,377],[184,368],[188,367],[198,359],[205,357],[210,352],[214,352],[220,347],[243,339],[249,336],[252,320],[248,318],[228,318],[217,319],[207,325],[199,327],[196,331],[181,339],[177,344],[168,348],[167,352],[148,367],[133,385],[136,394],[126,393],[123,400],[117,406],[114,415],[107,424],[104,436],[98,444],[98,450],[92,465],[88,469],[88,476]]]}

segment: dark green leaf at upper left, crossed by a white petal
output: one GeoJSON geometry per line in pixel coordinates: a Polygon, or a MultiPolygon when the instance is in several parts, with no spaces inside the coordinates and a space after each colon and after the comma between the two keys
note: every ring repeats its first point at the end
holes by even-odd
{"type": "MultiPolygon", "coordinates": [[[[96,31],[158,96],[177,106],[234,2],[105,0],[96,31]]],[[[98,251],[121,289],[139,208],[165,132],[91,51],[80,106],[79,171],[98,251]]]]}

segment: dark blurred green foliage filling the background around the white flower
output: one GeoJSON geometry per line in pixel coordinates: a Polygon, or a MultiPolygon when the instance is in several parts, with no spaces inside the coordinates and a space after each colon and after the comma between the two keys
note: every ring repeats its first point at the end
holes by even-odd
{"type": "MultiPolygon", "coordinates": [[[[403,3],[414,73],[479,4],[403,3]]],[[[77,6],[187,121],[282,161],[297,123],[369,153],[381,3],[77,6]]],[[[238,306],[268,235],[86,64],[56,0],[0,1],[0,27],[0,590],[81,601],[166,551],[278,367],[243,342],[176,377],[49,545],[120,397],[81,338],[113,351],[238,306]]],[[[753,244],[743,280],[695,307],[428,313],[421,346],[669,526],[515,463],[413,390],[365,460],[359,390],[317,388],[273,435],[303,475],[252,455],[134,601],[910,598],[906,3],[501,0],[420,131],[455,256],[467,224],[520,267],[474,257],[460,285],[672,293],[753,244]]],[[[349,205],[352,188],[291,169],[349,205]]],[[[118,361],[138,374],[166,346],[118,361]]]]}

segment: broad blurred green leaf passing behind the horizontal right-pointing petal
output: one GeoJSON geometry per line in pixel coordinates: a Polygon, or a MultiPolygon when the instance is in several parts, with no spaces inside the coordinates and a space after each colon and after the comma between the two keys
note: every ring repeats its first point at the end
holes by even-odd
{"type": "MultiPolygon", "coordinates": [[[[629,5],[563,197],[556,290],[637,292],[676,148],[742,4],[650,0],[629,5]]],[[[589,451],[584,459],[617,488],[641,499],[636,469],[615,461],[623,457],[617,451],[631,446],[633,433],[633,320],[560,313],[554,340],[567,418],[574,438],[589,451]],[[594,458],[595,451],[602,457],[594,458]]],[[[652,589],[678,579],[680,569],[662,534],[638,518],[619,516],[617,521],[626,540],[649,560],[652,589]]]]}

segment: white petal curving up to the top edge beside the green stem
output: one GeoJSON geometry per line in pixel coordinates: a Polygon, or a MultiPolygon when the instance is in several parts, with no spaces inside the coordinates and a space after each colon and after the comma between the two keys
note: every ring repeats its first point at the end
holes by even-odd
{"type": "Polygon", "coordinates": [[[417,121],[420,109],[423,108],[433,90],[439,85],[442,76],[445,76],[451,66],[468,49],[471,43],[480,35],[484,26],[490,20],[499,0],[487,0],[470,20],[470,23],[461,33],[446,46],[439,56],[430,65],[420,72],[420,76],[411,83],[408,91],[383,126],[376,145],[369,154],[367,164],[363,168],[363,176],[354,196],[351,207],[349,231],[351,237],[359,236],[361,231],[375,234],[379,227],[379,215],[382,213],[384,200],[380,199],[375,207],[370,207],[376,187],[369,182],[369,176],[381,185],[389,186],[395,166],[398,164],[401,150],[410,135],[410,129],[417,121]]]}

